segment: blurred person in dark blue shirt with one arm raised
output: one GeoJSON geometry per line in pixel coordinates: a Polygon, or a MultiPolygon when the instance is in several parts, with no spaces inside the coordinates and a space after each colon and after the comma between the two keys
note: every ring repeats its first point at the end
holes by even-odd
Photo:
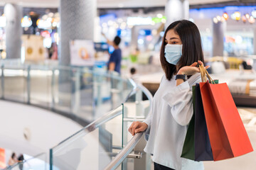
{"type": "MultiPolygon", "coordinates": [[[[107,39],[106,35],[102,33],[102,35],[107,39]]],[[[107,69],[112,72],[118,72],[121,74],[121,60],[122,60],[122,50],[119,48],[119,44],[121,42],[121,38],[119,36],[115,36],[113,41],[107,39],[107,44],[114,47],[114,51],[110,55],[110,60],[107,64],[107,69]]]]}

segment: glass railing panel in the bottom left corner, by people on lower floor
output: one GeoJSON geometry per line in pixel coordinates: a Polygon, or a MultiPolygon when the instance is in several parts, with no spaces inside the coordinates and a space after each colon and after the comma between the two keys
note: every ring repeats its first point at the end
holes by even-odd
{"type": "Polygon", "coordinates": [[[6,167],[6,170],[48,170],[49,164],[47,163],[47,155],[39,154],[36,157],[30,157],[23,154],[24,161],[18,162],[13,166],[6,167]]]}

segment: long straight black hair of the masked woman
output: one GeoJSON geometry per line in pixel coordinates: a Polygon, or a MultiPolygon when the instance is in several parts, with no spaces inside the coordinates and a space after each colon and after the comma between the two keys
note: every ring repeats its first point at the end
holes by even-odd
{"type": "Polygon", "coordinates": [[[178,68],[189,66],[193,64],[193,62],[198,62],[198,60],[204,62],[201,35],[196,24],[187,20],[175,21],[174,23],[171,23],[168,28],[166,28],[160,50],[161,67],[164,69],[166,79],[168,80],[170,80],[171,77],[178,72],[176,65],[169,64],[164,57],[166,33],[172,29],[174,30],[174,33],[178,34],[182,42],[182,56],[181,60],[179,60],[177,63],[178,68]]]}

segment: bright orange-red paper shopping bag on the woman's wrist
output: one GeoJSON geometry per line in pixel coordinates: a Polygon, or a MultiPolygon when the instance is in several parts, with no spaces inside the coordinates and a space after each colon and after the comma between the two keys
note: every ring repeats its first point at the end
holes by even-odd
{"type": "MultiPolygon", "coordinates": [[[[204,67],[201,66],[201,69],[204,67]]],[[[200,83],[200,89],[214,161],[252,152],[252,145],[228,85],[209,84],[207,81],[200,83]]]]}

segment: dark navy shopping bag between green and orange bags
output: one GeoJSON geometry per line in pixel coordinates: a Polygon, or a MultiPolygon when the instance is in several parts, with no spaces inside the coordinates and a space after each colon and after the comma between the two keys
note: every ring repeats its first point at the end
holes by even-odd
{"type": "Polygon", "coordinates": [[[195,160],[198,162],[213,161],[213,152],[211,151],[210,147],[210,140],[206,126],[206,118],[203,111],[203,103],[199,84],[196,84],[195,96],[195,160]]]}

